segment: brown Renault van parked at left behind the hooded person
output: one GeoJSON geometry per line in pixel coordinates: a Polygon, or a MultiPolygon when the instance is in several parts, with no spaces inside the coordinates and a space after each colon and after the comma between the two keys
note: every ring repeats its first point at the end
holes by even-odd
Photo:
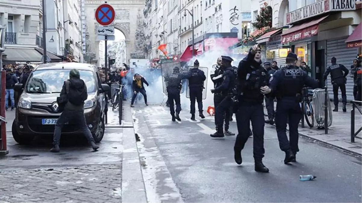
{"type": "MultiPolygon", "coordinates": [[[[13,138],[19,144],[30,143],[36,135],[53,136],[59,112],[56,98],[69,79],[71,69],[79,70],[80,78],[87,85],[88,99],[84,102],[84,115],[94,140],[100,142],[105,131],[105,93],[110,90],[102,84],[97,68],[91,64],[60,62],[37,66],[30,74],[24,88],[17,84],[20,92],[15,119],[12,124],[13,138]]],[[[77,122],[70,121],[62,129],[63,135],[81,134],[77,122]]]]}

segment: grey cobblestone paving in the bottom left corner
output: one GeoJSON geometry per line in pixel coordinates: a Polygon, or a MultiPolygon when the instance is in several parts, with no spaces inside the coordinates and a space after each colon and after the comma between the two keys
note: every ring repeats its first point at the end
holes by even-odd
{"type": "Polygon", "coordinates": [[[3,170],[0,202],[121,202],[121,165],[3,170]]]}

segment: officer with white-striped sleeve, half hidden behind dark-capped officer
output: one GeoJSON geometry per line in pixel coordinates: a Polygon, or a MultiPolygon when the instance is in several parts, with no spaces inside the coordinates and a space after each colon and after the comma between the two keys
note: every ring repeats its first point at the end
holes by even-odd
{"type": "MultiPolygon", "coordinates": [[[[214,83],[214,88],[220,86],[223,82],[223,73],[224,73],[224,66],[222,66],[222,58],[219,57],[218,60],[217,60],[217,65],[216,65],[216,70],[214,71],[214,73],[211,73],[210,76],[211,76],[211,80],[212,82],[214,83]]],[[[224,91],[224,92],[215,92],[214,93],[214,106],[215,106],[215,110],[216,108],[218,107],[218,105],[220,104],[220,102],[227,96],[227,92],[224,91]]],[[[225,112],[225,132],[224,134],[225,135],[235,135],[235,133],[232,133],[229,131],[229,123],[230,123],[230,118],[231,115],[230,115],[230,111],[226,111],[225,112]]],[[[218,130],[218,119],[216,119],[216,117],[218,117],[219,115],[216,114],[215,112],[215,129],[216,129],[216,133],[219,132],[218,130]]],[[[221,125],[221,124],[220,124],[221,125]]]]}

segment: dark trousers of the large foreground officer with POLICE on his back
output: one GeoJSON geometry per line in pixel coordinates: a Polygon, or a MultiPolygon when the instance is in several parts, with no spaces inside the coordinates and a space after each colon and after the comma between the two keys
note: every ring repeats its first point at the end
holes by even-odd
{"type": "Polygon", "coordinates": [[[275,127],[277,130],[279,148],[282,151],[291,150],[296,153],[298,148],[298,125],[302,118],[302,109],[295,98],[283,98],[277,102],[275,111],[275,127]],[[287,119],[289,118],[289,141],[287,138],[287,119]]]}

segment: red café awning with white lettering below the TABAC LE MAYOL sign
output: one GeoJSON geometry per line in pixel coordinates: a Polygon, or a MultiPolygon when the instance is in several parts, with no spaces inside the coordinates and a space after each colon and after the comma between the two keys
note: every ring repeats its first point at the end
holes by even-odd
{"type": "Polygon", "coordinates": [[[328,16],[324,16],[322,18],[291,27],[282,34],[282,43],[286,44],[317,35],[319,23],[327,17],[328,16]]]}

